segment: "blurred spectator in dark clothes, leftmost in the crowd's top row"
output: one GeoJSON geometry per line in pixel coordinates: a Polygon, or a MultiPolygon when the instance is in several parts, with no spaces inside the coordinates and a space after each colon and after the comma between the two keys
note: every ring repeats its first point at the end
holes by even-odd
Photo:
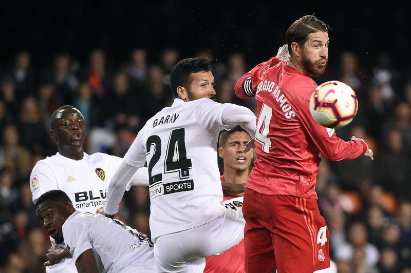
{"type": "Polygon", "coordinates": [[[17,53],[12,74],[16,83],[16,96],[18,99],[34,94],[35,75],[30,68],[30,53],[28,51],[17,53]]]}

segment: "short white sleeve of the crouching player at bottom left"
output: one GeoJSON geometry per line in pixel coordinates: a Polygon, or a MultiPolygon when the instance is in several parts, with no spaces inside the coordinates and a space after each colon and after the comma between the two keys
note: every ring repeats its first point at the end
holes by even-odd
{"type": "Polygon", "coordinates": [[[92,249],[89,233],[89,225],[82,223],[81,218],[67,219],[63,225],[64,243],[73,257],[74,264],[80,255],[87,249],[92,249]]]}

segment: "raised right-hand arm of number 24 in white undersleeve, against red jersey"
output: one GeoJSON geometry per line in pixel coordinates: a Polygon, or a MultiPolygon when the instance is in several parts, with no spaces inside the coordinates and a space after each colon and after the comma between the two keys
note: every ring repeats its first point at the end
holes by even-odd
{"type": "Polygon", "coordinates": [[[240,125],[250,134],[251,138],[255,138],[257,118],[250,109],[234,104],[229,105],[222,112],[221,120],[224,126],[233,127],[240,125]]]}

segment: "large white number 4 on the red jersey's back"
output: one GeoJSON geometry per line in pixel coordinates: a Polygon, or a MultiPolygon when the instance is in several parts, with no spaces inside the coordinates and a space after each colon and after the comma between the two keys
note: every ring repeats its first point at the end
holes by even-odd
{"type": "Polygon", "coordinates": [[[271,140],[267,134],[270,131],[270,122],[273,110],[270,106],[263,103],[261,111],[258,115],[257,130],[255,130],[255,140],[263,145],[261,148],[264,152],[268,153],[271,148],[271,140]]]}

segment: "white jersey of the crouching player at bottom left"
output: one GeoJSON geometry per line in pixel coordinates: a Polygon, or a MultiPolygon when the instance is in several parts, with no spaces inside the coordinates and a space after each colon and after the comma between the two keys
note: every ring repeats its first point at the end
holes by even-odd
{"type": "Polygon", "coordinates": [[[99,272],[156,268],[151,242],[117,219],[74,211],[63,224],[63,237],[74,264],[81,253],[93,249],[99,272]]]}

